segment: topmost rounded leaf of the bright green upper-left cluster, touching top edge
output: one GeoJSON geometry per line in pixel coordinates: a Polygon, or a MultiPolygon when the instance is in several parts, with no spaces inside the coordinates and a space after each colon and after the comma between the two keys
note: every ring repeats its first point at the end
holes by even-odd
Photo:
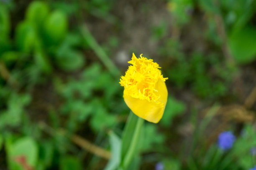
{"type": "Polygon", "coordinates": [[[26,10],[26,20],[41,27],[49,14],[49,7],[45,2],[33,1],[26,10]]]}

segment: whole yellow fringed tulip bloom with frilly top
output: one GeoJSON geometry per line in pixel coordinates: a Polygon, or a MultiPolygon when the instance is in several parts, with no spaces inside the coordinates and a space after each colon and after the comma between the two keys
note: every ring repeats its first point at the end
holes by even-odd
{"type": "Polygon", "coordinates": [[[137,58],[134,53],[132,64],[121,76],[124,87],[123,98],[126,105],[136,114],[149,122],[157,123],[162,118],[167,102],[165,80],[159,65],[146,57],[137,58]]]}

